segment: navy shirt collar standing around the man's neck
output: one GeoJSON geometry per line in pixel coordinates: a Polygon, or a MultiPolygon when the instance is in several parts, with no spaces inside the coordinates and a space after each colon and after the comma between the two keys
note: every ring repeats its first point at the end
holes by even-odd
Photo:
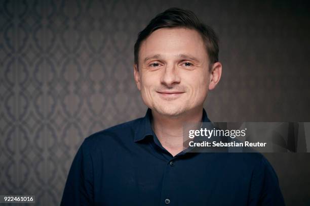
{"type": "MultiPolygon", "coordinates": [[[[152,111],[151,109],[147,109],[146,114],[143,118],[138,122],[137,127],[135,128],[135,136],[134,141],[140,141],[145,139],[147,136],[155,136],[151,126],[152,119],[152,111]]],[[[202,122],[210,122],[206,110],[203,108],[203,117],[202,122]]]]}

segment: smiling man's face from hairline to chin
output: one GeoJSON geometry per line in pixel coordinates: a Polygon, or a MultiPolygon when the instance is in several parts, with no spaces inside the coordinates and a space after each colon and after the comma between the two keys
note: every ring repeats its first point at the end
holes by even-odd
{"type": "Polygon", "coordinates": [[[135,81],[150,109],[177,117],[203,107],[212,74],[204,41],[196,30],[152,32],[141,43],[138,64],[135,81]]]}

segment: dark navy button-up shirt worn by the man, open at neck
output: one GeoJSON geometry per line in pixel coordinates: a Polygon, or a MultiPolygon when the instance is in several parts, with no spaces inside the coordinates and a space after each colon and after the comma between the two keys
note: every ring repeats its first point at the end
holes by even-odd
{"type": "MultiPolygon", "coordinates": [[[[205,110],[203,122],[210,122],[205,110]]],[[[144,118],[92,134],[76,153],[61,205],[284,205],[260,153],[173,157],[144,118]]]]}

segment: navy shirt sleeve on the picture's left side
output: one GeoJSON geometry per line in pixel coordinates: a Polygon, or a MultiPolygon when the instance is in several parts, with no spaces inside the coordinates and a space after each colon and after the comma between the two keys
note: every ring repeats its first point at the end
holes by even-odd
{"type": "Polygon", "coordinates": [[[87,139],[76,153],[60,205],[93,205],[93,164],[87,139]]]}

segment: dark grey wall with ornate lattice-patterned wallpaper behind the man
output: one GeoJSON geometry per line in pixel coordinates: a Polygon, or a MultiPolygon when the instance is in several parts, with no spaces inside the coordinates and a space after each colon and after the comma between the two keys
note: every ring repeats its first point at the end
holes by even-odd
{"type": "MultiPolygon", "coordinates": [[[[296,1],[1,1],[0,194],[57,205],[72,159],[96,131],[144,115],[137,33],[169,7],[220,37],[212,121],[310,122],[310,9],[296,1]]],[[[310,153],[266,153],[287,205],[310,204],[310,153]]]]}

